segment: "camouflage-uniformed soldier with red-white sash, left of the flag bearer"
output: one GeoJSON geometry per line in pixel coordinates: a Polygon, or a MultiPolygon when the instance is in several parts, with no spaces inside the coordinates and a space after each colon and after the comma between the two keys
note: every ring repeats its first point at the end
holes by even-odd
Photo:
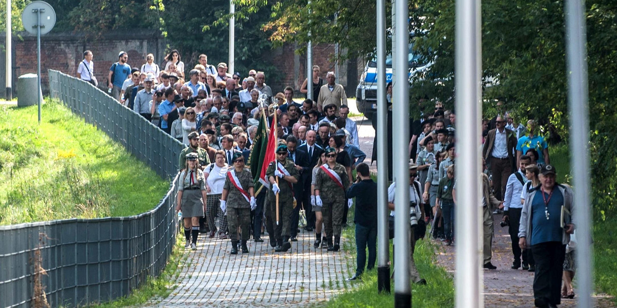
{"type": "Polygon", "coordinates": [[[249,169],[244,168],[242,153],[234,153],[232,161],[233,169],[227,172],[225,184],[223,184],[221,209],[226,213],[229,223],[231,254],[238,254],[238,226],[242,228],[242,253],[249,253],[246,241],[251,237],[251,211],[257,206],[253,176],[249,169]],[[227,208],[227,201],[229,201],[229,208],[227,208]],[[226,211],[227,209],[229,211],[226,211]]]}

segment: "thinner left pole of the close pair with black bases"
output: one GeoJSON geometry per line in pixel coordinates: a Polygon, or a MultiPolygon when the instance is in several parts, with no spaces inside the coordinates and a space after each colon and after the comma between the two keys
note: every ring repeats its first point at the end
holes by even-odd
{"type": "Polygon", "coordinates": [[[387,210],[386,1],[377,1],[377,290],[390,293],[387,210]]]}

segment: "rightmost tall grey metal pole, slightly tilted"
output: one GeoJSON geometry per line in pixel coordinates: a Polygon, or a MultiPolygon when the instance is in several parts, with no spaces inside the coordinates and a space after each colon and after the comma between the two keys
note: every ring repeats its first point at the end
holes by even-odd
{"type": "MultiPolygon", "coordinates": [[[[570,110],[572,176],[574,184],[574,223],[580,247],[576,256],[578,268],[578,307],[592,307],[593,256],[591,245],[592,206],[589,199],[589,110],[587,108],[587,34],[585,1],[566,1],[566,56],[568,60],[568,105],[570,110]]],[[[565,171],[561,171],[565,172],[565,171]]]]}

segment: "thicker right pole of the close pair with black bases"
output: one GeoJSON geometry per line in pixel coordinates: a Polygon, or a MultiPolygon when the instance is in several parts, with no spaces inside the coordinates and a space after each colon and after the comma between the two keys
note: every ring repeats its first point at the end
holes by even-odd
{"type": "Polygon", "coordinates": [[[410,256],[410,224],[409,224],[409,80],[407,77],[409,50],[408,30],[408,2],[407,0],[395,0],[397,12],[396,25],[396,56],[392,58],[394,65],[399,70],[397,83],[394,84],[394,99],[392,112],[392,132],[397,132],[392,137],[394,153],[397,160],[393,161],[395,188],[395,230],[394,241],[394,307],[404,308],[412,306],[412,288],[409,281],[409,256],[410,256]]]}

